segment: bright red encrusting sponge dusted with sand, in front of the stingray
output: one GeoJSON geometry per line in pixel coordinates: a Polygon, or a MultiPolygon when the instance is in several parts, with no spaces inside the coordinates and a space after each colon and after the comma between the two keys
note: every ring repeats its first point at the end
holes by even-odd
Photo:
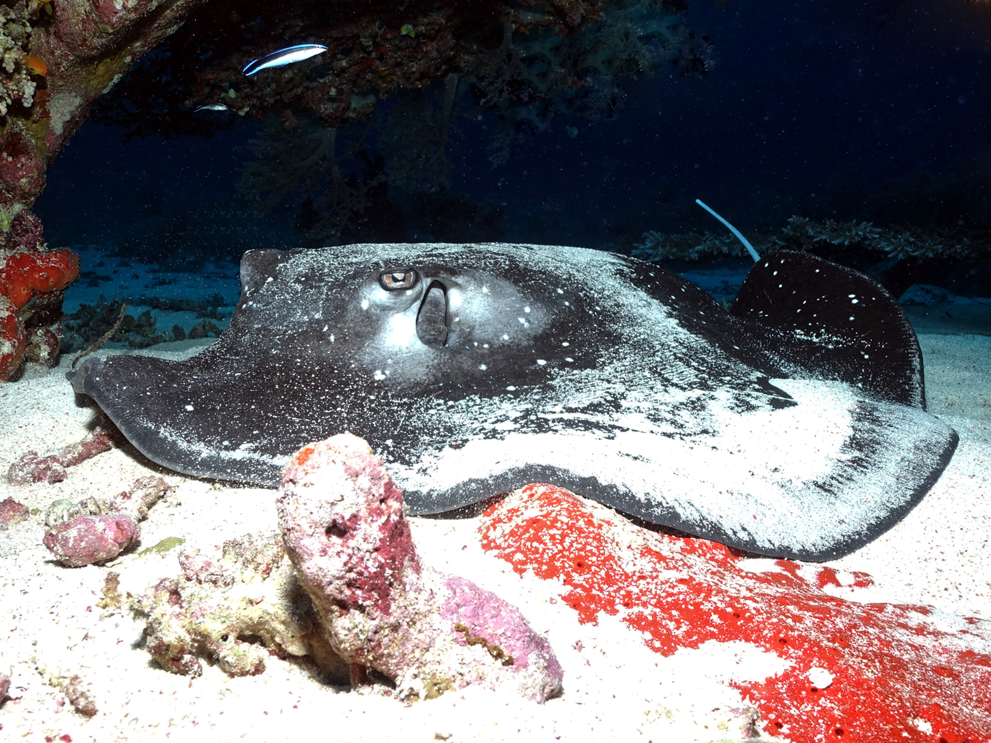
{"type": "Polygon", "coordinates": [[[743,641],[790,661],[763,682],[734,683],[771,735],[795,743],[991,741],[985,620],[823,590],[870,584],[863,573],[786,560],[751,572],[722,545],[643,529],[553,485],[530,484],[496,503],[481,533],[483,547],[517,573],[565,584],[562,598],[583,623],[618,614],[664,656],[743,641]]]}

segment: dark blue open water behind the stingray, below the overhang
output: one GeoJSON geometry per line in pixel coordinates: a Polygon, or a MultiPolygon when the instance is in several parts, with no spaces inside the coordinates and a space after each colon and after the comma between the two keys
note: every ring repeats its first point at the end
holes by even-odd
{"type": "MultiPolygon", "coordinates": [[[[495,210],[488,221],[469,219],[462,232],[475,234],[459,236],[629,251],[646,230],[721,230],[695,198],[745,231],[780,227],[794,214],[991,225],[986,5],[704,0],[689,4],[688,17],[714,45],[712,70],[695,78],[662,67],[620,80],[625,105],[612,120],[559,116],[494,166],[495,114],[459,119],[446,150],[450,193],[495,210]]],[[[468,103],[462,95],[462,110],[468,103]]],[[[380,113],[394,104],[380,104],[380,113]]],[[[190,251],[188,237],[143,254],[143,230],[161,232],[163,219],[174,225],[195,209],[194,231],[226,219],[221,229],[236,232],[252,208],[236,187],[257,134],[242,120],[210,139],[122,145],[122,130],[84,125],[37,204],[50,243],[127,243],[139,260],[161,261],[163,252],[190,251]]],[[[339,151],[349,136],[339,133],[339,151]]],[[[375,147],[373,137],[373,155],[375,147]]],[[[344,166],[360,171],[354,160],[344,166]]],[[[443,225],[417,221],[402,198],[390,187],[389,199],[405,209],[398,232],[384,237],[373,225],[351,237],[443,237],[443,225]]],[[[293,229],[300,201],[232,235],[230,252],[307,244],[293,229]]]]}

